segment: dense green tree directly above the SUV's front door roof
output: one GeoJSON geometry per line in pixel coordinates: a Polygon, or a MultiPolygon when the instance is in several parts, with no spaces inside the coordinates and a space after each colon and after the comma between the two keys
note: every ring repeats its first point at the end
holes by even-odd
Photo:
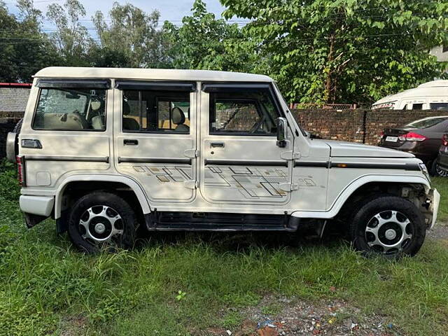
{"type": "Polygon", "coordinates": [[[244,35],[238,25],[228,25],[207,13],[202,0],[193,4],[193,15],[182,19],[182,26],[165,22],[169,58],[177,69],[254,71],[255,52],[243,48],[244,35]]]}

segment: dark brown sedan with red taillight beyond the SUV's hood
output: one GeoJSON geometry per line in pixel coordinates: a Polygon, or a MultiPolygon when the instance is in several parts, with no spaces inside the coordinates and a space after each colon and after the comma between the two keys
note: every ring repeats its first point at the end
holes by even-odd
{"type": "Polygon", "coordinates": [[[435,175],[441,139],[447,130],[448,116],[423,118],[402,127],[386,128],[379,146],[414,154],[435,175]]]}

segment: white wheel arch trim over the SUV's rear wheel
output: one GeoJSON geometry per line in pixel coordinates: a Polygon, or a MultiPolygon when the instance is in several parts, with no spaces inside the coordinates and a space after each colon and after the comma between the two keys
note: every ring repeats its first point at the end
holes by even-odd
{"type": "MultiPolygon", "coordinates": [[[[148,204],[144,190],[139,186],[139,183],[129,177],[117,175],[72,175],[64,179],[57,188],[55,195],[55,219],[61,217],[62,199],[66,188],[80,182],[102,183],[101,189],[108,189],[108,186],[112,187],[112,189],[117,188],[118,185],[125,186],[134,193],[143,214],[149,214],[151,212],[151,207],[148,204]]],[[[95,188],[92,188],[92,190],[95,190],[95,188]]]]}

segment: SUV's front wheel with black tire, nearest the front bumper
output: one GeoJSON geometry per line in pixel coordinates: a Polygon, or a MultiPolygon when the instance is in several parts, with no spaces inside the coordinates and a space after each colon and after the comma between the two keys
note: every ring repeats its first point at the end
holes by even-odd
{"type": "Polygon", "coordinates": [[[364,204],[353,212],[349,232],[353,247],[364,255],[400,258],[402,255],[415,255],[419,251],[426,236],[426,225],[419,209],[409,200],[393,195],[374,195],[365,200],[364,204]],[[395,217],[392,217],[393,211],[396,211],[395,217]],[[386,223],[380,225],[374,216],[380,216],[381,221],[386,223]],[[391,216],[390,221],[387,219],[388,216],[391,216]],[[398,221],[394,223],[392,218],[396,218],[398,221]],[[407,220],[409,223],[405,225],[407,220]],[[374,225],[375,221],[377,221],[376,226],[374,225]],[[400,224],[405,226],[404,230],[400,224]],[[377,230],[377,233],[370,232],[371,228],[377,230]],[[395,232],[395,237],[390,238],[393,236],[393,232],[395,232]],[[386,233],[389,234],[390,240],[386,237],[386,233]],[[405,237],[409,238],[405,239],[405,237]],[[395,241],[395,239],[397,240],[395,241]],[[378,241],[379,244],[375,244],[375,241],[378,241]],[[395,244],[398,244],[398,247],[390,247],[395,244]]]}

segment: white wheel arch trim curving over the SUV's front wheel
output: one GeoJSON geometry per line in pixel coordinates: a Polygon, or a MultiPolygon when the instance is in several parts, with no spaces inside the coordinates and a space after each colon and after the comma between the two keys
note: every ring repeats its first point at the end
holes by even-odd
{"type": "Polygon", "coordinates": [[[339,214],[339,211],[344,207],[344,204],[348,202],[353,195],[359,193],[366,186],[373,185],[384,186],[422,186],[425,193],[428,194],[430,190],[430,184],[423,176],[395,176],[395,175],[367,175],[360,176],[358,179],[351,181],[344,190],[332,202],[330,208],[326,211],[294,211],[291,216],[299,218],[334,218],[339,214]]]}

